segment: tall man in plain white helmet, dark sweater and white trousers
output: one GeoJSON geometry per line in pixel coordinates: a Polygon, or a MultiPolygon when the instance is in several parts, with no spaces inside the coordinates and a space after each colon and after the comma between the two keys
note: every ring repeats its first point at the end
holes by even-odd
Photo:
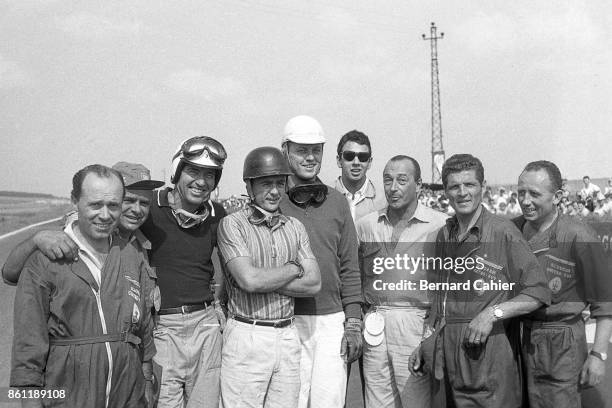
{"type": "Polygon", "coordinates": [[[299,407],[344,406],[346,364],[361,354],[361,280],[357,235],[346,199],[317,177],[325,136],[309,116],[289,120],[282,138],[292,175],[286,216],[306,227],[321,269],[321,291],[297,298],[295,325],[302,344],[299,407]]]}

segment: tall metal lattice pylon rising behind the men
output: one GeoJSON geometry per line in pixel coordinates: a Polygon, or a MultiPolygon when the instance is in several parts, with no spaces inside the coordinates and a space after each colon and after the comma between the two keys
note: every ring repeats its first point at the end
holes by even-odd
{"type": "Polygon", "coordinates": [[[438,40],[444,33],[437,34],[435,23],[431,23],[429,37],[422,35],[431,45],[431,182],[442,183],[444,147],[442,145],[442,112],[440,111],[440,81],[438,79],[438,40]]]}

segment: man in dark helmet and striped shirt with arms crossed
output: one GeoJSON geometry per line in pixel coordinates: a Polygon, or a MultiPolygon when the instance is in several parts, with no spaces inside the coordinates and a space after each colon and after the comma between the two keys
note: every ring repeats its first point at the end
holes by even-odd
{"type": "Polygon", "coordinates": [[[223,407],[298,405],[294,297],[315,295],[321,276],[304,225],[278,210],[290,174],[279,149],[251,151],[243,169],[251,202],[219,224],[230,314],[223,332],[223,407]]]}

